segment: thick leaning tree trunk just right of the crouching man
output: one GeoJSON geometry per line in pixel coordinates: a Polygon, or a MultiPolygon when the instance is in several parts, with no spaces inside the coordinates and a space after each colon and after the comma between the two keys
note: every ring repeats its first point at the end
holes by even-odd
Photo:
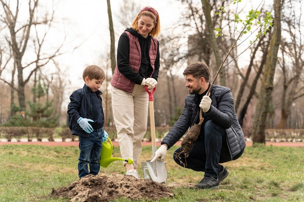
{"type": "Polygon", "coordinates": [[[274,0],[274,23],[273,34],[270,41],[270,50],[267,55],[267,62],[264,77],[261,85],[261,92],[256,106],[253,123],[253,144],[265,144],[265,125],[273,90],[273,78],[277,62],[278,50],[281,42],[281,10],[284,0],[274,0]]]}

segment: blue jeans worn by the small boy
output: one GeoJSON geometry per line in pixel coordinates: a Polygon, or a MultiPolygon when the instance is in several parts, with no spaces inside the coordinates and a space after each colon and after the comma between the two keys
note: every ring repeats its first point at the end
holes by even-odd
{"type": "Polygon", "coordinates": [[[82,178],[88,174],[97,175],[100,170],[100,154],[104,129],[94,130],[90,137],[79,136],[80,155],[78,158],[78,176],[82,178]],[[90,171],[88,170],[88,165],[90,171]]]}

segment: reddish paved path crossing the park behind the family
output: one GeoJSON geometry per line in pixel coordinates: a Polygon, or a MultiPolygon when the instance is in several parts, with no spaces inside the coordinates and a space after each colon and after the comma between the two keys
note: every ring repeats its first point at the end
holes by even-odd
{"type": "MultiPolygon", "coordinates": [[[[12,142],[7,142],[7,141],[0,141],[0,145],[3,144],[34,144],[34,145],[46,145],[46,146],[78,146],[78,141],[12,141],[12,142]]],[[[246,142],[246,146],[252,146],[253,142],[246,142]]],[[[117,141],[112,141],[113,146],[118,146],[117,141]]],[[[180,145],[181,141],[178,141],[175,145],[180,145]]],[[[149,141],[143,141],[142,145],[147,146],[151,145],[151,142],[149,141]]],[[[289,146],[289,147],[304,147],[304,142],[266,142],[266,146],[289,146]]],[[[160,142],[156,142],[156,146],[160,146],[160,142]]]]}

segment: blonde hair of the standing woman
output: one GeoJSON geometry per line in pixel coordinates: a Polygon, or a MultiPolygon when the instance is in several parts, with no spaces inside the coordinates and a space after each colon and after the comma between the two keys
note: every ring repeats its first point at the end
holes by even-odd
{"type": "Polygon", "coordinates": [[[141,16],[149,16],[154,20],[155,27],[152,29],[152,31],[149,33],[149,35],[151,35],[152,37],[157,37],[160,33],[160,19],[159,19],[158,12],[152,7],[144,7],[141,11],[139,11],[139,13],[137,14],[137,16],[135,17],[135,19],[132,22],[132,28],[135,31],[138,31],[138,19],[141,16]],[[153,9],[153,11],[156,13],[157,16],[155,16],[154,12],[145,10],[145,8],[149,8],[149,10],[153,9]]]}

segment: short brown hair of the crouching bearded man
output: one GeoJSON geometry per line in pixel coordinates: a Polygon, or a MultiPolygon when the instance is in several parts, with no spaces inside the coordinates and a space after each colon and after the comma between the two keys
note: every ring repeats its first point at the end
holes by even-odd
{"type": "Polygon", "coordinates": [[[186,76],[188,74],[193,75],[193,77],[197,79],[203,77],[207,82],[209,82],[210,71],[208,65],[205,62],[194,62],[187,66],[183,72],[183,75],[186,76]]]}

